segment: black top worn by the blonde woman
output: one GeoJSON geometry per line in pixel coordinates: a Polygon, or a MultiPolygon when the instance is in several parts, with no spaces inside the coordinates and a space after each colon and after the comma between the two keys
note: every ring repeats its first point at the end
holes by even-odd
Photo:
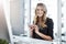
{"type": "MultiPolygon", "coordinates": [[[[54,23],[53,20],[47,18],[45,24],[47,25],[47,28],[41,28],[38,26],[38,31],[45,35],[51,36],[52,38],[54,38],[53,36],[53,28],[54,28],[54,23]]],[[[38,38],[38,40],[44,40],[42,38],[40,35],[37,35],[34,31],[33,31],[33,38],[38,38]]]]}

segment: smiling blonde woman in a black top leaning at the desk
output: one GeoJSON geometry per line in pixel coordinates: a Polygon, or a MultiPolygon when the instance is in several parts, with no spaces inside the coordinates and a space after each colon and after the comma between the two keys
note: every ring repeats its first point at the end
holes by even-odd
{"type": "Polygon", "coordinates": [[[33,38],[52,41],[53,37],[53,20],[46,16],[46,7],[43,3],[37,3],[35,9],[35,18],[33,25],[30,25],[31,35],[33,38]]]}

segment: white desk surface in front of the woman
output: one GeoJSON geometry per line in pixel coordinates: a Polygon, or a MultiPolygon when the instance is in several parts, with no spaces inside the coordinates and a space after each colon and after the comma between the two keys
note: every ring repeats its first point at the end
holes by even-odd
{"type": "Polygon", "coordinates": [[[15,44],[57,44],[57,41],[43,41],[43,40],[36,40],[31,37],[24,37],[24,36],[13,36],[13,41],[15,44]]]}

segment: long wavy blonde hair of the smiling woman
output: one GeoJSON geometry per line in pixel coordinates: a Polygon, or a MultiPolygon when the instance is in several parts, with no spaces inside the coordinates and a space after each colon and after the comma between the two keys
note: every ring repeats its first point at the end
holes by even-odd
{"type": "MultiPolygon", "coordinates": [[[[42,16],[41,26],[46,28],[46,26],[47,26],[47,25],[45,24],[45,22],[46,22],[46,12],[47,12],[46,7],[45,7],[45,4],[43,4],[43,3],[37,3],[36,7],[38,7],[38,6],[42,6],[42,7],[44,8],[44,14],[43,14],[43,16],[42,16]]],[[[36,9],[35,9],[34,24],[37,24],[37,22],[38,22],[38,16],[36,15],[36,9]]]]}

